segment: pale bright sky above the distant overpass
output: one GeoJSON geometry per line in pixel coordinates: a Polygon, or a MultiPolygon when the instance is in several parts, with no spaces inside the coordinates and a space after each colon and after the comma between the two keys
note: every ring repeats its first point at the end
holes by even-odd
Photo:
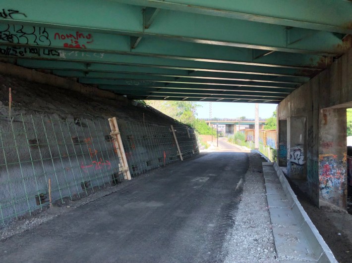
{"type": "MultiPolygon", "coordinates": [[[[197,118],[209,118],[209,102],[197,102],[197,118]]],[[[273,115],[277,104],[259,103],[259,117],[265,119],[273,115]]],[[[212,118],[228,118],[245,116],[254,119],[254,103],[212,102],[212,118]]]]}

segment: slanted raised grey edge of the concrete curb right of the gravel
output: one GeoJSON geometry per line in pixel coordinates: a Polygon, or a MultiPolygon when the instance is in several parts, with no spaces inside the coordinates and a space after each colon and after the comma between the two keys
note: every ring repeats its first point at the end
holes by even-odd
{"type": "MultiPolygon", "coordinates": [[[[261,152],[258,152],[268,163],[263,163],[263,165],[272,165],[276,171],[276,174],[279,177],[283,190],[289,200],[290,204],[293,204],[291,210],[293,212],[294,217],[297,221],[301,222],[300,229],[304,233],[309,245],[313,249],[313,253],[316,255],[316,262],[328,263],[333,262],[337,263],[332,251],[325,243],[323,237],[319,234],[318,229],[316,229],[313,222],[308,217],[307,213],[304,211],[303,207],[299,203],[296,195],[294,194],[288,180],[286,179],[284,173],[280,169],[277,163],[272,163],[270,160],[264,156],[261,152]]],[[[272,220],[272,215],[270,214],[270,218],[272,220]]],[[[276,245],[276,242],[275,242],[276,245]]]]}

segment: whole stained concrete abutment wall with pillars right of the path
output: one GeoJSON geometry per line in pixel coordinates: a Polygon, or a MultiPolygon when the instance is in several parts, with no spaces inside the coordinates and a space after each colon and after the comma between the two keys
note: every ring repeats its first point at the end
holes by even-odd
{"type": "Polygon", "coordinates": [[[285,149],[280,145],[286,143],[288,176],[297,178],[290,158],[298,150],[295,147],[300,148],[304,164],[298,178],[306,179],[307,194],[316,205],[327,202],[346,209],[346,109],[350,107],[352,50],[278,105],[278,147],[282,147],[278,163],[284,165],[280,152],[285,149]]]}

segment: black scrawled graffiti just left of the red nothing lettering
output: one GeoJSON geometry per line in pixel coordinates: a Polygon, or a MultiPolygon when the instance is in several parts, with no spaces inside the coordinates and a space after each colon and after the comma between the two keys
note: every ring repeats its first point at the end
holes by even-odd
{"type": "Polygon", "coordinates": [[[51,45],[49,33],[45,27],[24,27],[9,24],[0,24],[0,41],[11,44],[51,45]]]}

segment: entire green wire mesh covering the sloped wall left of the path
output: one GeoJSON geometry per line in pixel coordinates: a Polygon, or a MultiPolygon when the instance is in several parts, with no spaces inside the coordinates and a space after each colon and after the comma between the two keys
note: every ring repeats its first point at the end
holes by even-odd
{"type": "MultiPolygon", "coordinates": [[[[108,118],[6,111],[0,109],[0,222],[48,205],[49,194],[63,202],[123,180],[108,118]]],[[[117,122],[131,175],[179,159],[171,126],[117,122]]],[[[198,152],[193,130],[174,129],[183,158],[198,152]]]]}

